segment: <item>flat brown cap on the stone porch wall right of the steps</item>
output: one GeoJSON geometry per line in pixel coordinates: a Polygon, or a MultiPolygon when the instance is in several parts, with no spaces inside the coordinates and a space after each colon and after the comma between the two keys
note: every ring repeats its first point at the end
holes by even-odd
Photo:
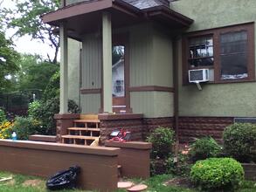
{"type": "Polygon", "coordinates": [[[142,119],[143,114],[134,114],[134,113],[101,113],[99,114],[99,120],[135,120],[142,119]]]}

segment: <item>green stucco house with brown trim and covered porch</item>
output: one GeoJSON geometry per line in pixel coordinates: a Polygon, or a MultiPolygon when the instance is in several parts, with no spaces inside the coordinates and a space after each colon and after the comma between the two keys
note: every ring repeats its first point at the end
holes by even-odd
{"type": "Polygon", "coordinates": [[[235,118],[256,116],[254,0],[63,0],[62,6],[43,16],[60,30],[59,133],[63,121],[77,118],[66,114],[68,98],[82,113],[99,113],[105,138],[124,127],[142,140],[164,126],[175,127],[181,142],[220,139],[235,118]],[[120,80],[114,46],[124,51],[120,80]],[[190,83],[190,70],[207,73],[207,82],[190,83]],[[123,90],[118,97],[114,83],[123,90]]]}

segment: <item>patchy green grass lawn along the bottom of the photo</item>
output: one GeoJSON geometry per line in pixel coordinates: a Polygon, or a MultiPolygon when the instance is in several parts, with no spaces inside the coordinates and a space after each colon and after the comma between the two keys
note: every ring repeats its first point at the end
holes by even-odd
{"type": "MultiPolygon", "coordinates": [[[[41,192],[46,191],[45,188],[45,179],[35,176],[28,175],[14,175],[7,172],[0,172],[0,177],[10,177],[12,180],[6,182],[0,182],[0,191],[2,192],[41,192]]],[[[140,181],[133,180],[135,183],[144,183],[149,186],[148,191],[150,192],[196,192],[197,189],[185,189],[177,186],[163,185],[164,182],[170,181],[175,177],[172,175],[158,175],[151,177],[149,180],[140,181]]],[[[63,190],[66,192],[81,192],[82,190],[63,190]]],[[[122,192],[126,190],[118,190],[122,192]]],[[[244,182],[242,189],[239,189],[238,192],[256,192],[256,182],[244,182]]]]}

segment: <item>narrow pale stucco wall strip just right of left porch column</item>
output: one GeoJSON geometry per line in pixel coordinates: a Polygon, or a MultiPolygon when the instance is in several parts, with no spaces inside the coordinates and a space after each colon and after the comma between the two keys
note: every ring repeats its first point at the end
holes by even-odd
{"type": "Polygon", "coordinates": [[[80,48],[81,44],[68,39],[68,99],[80,105],[80,48]]]}

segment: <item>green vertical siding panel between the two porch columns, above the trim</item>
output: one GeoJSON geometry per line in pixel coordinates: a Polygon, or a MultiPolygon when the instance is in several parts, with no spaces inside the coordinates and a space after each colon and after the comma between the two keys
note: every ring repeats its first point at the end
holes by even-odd
{"type": "Polygon", "coordinates": [[[101,88],[101,39],[86,35],[83,39],[82,88],[101,88]]]}

